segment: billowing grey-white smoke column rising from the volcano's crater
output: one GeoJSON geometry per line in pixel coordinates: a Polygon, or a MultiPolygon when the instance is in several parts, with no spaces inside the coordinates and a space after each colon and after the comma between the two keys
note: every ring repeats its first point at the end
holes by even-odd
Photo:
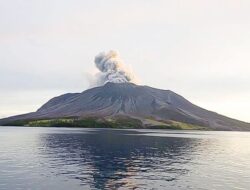
{"type": "Polygon", "coordinates": [[[95,57],[95,66],[99,72],[92,80],[91,86],[101,86],[107,82],[126,83],[135,82],[131,71],[123,64],[116,51],[99,53],[95,57]]]}

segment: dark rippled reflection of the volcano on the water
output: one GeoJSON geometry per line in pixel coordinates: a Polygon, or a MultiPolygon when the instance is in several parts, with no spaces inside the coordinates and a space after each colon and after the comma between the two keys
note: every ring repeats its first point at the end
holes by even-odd
{"type": "Polygon", "coordinates": [[[57,175],[96,189],[136,189],[176,181],[199,139],[132,135],[136,131],[42,134],[40,154],[57,175]],[[157,183],[156,183],[157,182],[157,183]],[[152,183],[150,185],[150,183],[152,183]]]}

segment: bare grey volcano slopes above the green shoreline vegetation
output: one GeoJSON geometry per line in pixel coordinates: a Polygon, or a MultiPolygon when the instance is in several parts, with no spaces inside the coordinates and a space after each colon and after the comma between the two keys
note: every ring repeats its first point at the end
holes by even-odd
{"type": "Polygon", "coordinates": [[[176,121],[211,130],[250,130],[249,123],[198,107],[170,90],[110,82],[82,93],[68,93],[52,98],[36,112],[5,118],[0,120],[0,124],[31,119],[107,119],[120,116],[138,119],[145,127],[155,122],[176,121]]]}

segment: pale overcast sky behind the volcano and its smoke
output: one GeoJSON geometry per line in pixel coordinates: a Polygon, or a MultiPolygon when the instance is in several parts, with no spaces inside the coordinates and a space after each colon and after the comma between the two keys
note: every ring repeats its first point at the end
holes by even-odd
{"type": "Polygon", "coordinates": [[[0,118],[89,88],[116,50],[141,85],[250,122],[249,0],[0,0],[0,118]]]}

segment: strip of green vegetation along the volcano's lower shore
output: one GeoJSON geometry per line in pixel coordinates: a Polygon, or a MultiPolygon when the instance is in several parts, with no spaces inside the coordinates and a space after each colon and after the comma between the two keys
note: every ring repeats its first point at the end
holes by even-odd
{"type": "Polygon", "coordinates": [[[177,121],[158,121],[153,118],[139,119],[130,117],[114,118],[56,118],[13,121],[7,126],[29,127],[83,127],[83,128],[149,128],[149,129],[176,129],[176,130],[208,130],[206,127],[187,124],[177,121]]]}

